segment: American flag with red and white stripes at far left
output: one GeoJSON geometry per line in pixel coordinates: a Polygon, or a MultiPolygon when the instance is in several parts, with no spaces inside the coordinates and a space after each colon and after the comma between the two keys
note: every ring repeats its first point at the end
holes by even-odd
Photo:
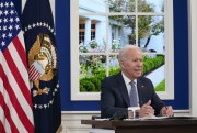
{"type": "Polygon", "coordinates": [[[33,133],[33,104],[20,19],[0,0],[0,133],[33,133]]]}

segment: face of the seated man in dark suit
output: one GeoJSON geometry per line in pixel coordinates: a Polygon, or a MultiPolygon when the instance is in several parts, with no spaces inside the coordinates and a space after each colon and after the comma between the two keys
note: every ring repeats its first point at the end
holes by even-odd
{"type": "Polygon", "coordinates": [[[131,80],[141,76],[142,54],[138,49],[129,49],[127,57],[121,62],[123,73],[131,80]]]}

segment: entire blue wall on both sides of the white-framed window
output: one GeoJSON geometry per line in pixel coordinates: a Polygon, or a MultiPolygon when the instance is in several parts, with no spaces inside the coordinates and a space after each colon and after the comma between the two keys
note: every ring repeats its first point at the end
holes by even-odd
{"type": "MultiPolygon", "coordinates": [[[[166,104],[172,104],[176,110],[185,110],[189,106],[187,0],[173,1],[175,99],[165,102],[166,104]]],[[[18,5],[20,7],[19,2],[18,5]]],[[[21,9],[19,7],[18,9],[21,9]]],[[[70,100],[70,1],[56,0],[56,33],[62,111],[99,111],[100,101],[70,100]]]]}

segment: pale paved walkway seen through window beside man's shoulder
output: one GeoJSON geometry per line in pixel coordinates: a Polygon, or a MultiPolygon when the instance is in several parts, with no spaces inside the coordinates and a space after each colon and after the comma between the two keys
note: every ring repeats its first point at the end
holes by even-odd
{"type": "Polygon", "coordinates": [[[154,87],[157,87],[165,78],[165,65],[159,67],[154,71],[151,71],[146,77],[152,81],[154,87]]]}

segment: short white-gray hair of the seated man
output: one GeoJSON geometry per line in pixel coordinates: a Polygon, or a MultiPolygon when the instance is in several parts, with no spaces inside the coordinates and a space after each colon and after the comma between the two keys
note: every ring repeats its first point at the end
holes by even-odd
{"type": "Polygon", "coordinates": [[[140,48],[139,48],[138,46],[135,46],[135,45],[125,45],[125,46],[119,51],[118,60],[120,60],[120,59],[126,59],[126,53],[127,53],[129,49],[139,49],[139,51],[140,51],[140,48]]]}

